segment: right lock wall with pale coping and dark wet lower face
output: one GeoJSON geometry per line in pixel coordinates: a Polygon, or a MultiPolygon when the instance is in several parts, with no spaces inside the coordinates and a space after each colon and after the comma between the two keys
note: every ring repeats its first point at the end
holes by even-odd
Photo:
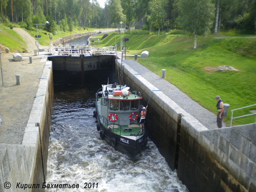
{"type": "Polygon", "coordinates": [[[149,138],[189,191],[256,191],[256,124],[208,130],[132,68],[122,67],[125,84],[141,92],[144,106],[151,94],[149,138]]]}

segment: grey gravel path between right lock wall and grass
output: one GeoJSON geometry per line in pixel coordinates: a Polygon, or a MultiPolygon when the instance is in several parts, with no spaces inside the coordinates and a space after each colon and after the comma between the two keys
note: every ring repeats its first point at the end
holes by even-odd
{"type": "MultiPolygon", "coordinates": [[[[123,60],[127,65],[133,68],[141,76],[147,79],[151,84],[156,86],[161,90],[165,95],[167,95],[171,100],[177,103],[181,108],[183,108],[190,115],[194,116],[201,124],[203,124],[208,129],[216,129],[217,116],[210,112],[208,109],[203,108],[196,101],[192,100],[188,95],[180,91],[176,86],[164,80],[160,76],[156,75],[152,71],[148,70],[146,67],[140,65],[135,60],[123,60]]],[[[161,69],[159,69],[161,70],[161,69]]],[[[214,100],[213,95],[212,100],[214,100]]],[[[216,109],[217,110],[217,109],[216,109]]],[[[226,125],[223,123],[223,127],[226,125]]]]}

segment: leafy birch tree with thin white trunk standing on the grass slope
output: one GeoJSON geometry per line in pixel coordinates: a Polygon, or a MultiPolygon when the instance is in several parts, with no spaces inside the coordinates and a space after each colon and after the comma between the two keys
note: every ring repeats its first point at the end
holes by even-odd
{"type": "Polygon", "coordinates": [[[207,36],[212,28],[215,7],[211,0],[179,0],[179,24],[193,35],[196,49],[197,35],[207,36]]]}

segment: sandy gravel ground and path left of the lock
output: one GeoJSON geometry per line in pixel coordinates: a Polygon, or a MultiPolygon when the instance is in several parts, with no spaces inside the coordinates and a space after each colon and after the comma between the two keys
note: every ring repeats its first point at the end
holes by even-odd
{"type": "MultiPolygon", "coordinates": [[[[27,44],[28,50],[36,49],[35,38],[21,28],[13,28],[27,44]]],[[[43,46],[42,46],[43,47],[43,46]]],[[[4,86],[0,76],[0,110],[2,126],[0,143],[21,144],[28,117],[37,92],[39,78],[43,73],[44,63],[40,59],[13,61],[13,53],[1,55],[4,86]],[[15,75],[20,74],[21,85],[16,85],[15,75]]],[[[21,53],[22,57],[33,56],[32,53],[21,53]]]]}

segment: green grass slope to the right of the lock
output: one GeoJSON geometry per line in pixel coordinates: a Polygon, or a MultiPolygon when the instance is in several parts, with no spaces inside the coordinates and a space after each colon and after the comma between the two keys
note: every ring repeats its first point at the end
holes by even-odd
{"type": "MultiPolygon", "coordinates": [[[[166,69],[165,80],[216,114],[214,98],[220,95],[223,102],[230,105],[225,119],[227,124],[230,124],[232,109],[256,104],[256,38],[198,37],[195,50],[194,39],[186,35],[125,33],[124,37],[129,38],[126,42],[129,54],[149,52],[148,58],[138,59],[139,63],[159,76],[161,69],[166,69]],[[220,65],[232,66],[239,71],[205,70],[220,65]]],[[[100,45],[114,46],[115,42],[120,44],[120,34],[110,34],[100,40],[100,45]]],[[[251,109],[256,109],[256,106],[235,111],[234,116],[251,114],[251,109]]],[[[234,119],[232,125],[255,123],[255,119],[255,115],[234,119]]]]}

